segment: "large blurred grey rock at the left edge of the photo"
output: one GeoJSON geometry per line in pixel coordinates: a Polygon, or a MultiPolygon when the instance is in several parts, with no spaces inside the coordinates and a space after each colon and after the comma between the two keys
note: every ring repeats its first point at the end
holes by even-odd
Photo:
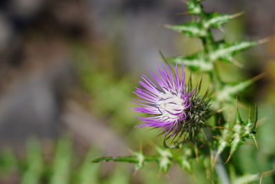
{"type": "MultiPolygon", "coordinates": [[[[0,98],[0,144],[19,146],[30,136],[56,137],[60,132],[61,90],[66,64],[52,65],[14,81],[0,98]]],[[[62,89],[63,88],[63,89],[62,89]]]]}

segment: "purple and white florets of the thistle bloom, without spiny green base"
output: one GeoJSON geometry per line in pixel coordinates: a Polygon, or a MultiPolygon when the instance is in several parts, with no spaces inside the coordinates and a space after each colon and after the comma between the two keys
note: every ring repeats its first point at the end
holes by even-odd
{"type": "Polygon", "coordinates": [[[172,135],[181,128],[181,122],[184,121],[191,107],[190,96],[192,92],[187,92],[184,85],[185,73],[184,67],[181,70],[181,76],[175,66],[175,74],[170,70],[168,65],[162,68],[157,67],[159,76],[151,71],[155,82],[142,75],[139,81],[144,89],[136,88],[135,93],[140,99],[134,99],[137,108],[135,112],[144,112],[153,116],[138,118],[144,123],[137,127],[159,127],[165,134],[172,132],[172,135]]]}

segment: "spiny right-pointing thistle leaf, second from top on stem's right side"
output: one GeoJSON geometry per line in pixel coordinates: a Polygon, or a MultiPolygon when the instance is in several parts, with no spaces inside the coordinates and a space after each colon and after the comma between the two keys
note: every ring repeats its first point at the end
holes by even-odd
{"type": "Polygon", "coordinates": [[[210,53],[210,61],[234,61],[233,56],[238,52],[247,50],[252,46],[257,45],[256,41],[242,41],[239,43],[226,44],[219,43],[219,47],[210,53]]]}

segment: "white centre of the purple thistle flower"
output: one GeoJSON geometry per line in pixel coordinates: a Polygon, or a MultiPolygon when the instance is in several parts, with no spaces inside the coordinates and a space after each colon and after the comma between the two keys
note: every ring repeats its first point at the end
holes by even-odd
{"type": "Polygon", "coordinates": [[[163,116],[170,119],[177,119],[179,114],[184,111],[184,101],[177,94],[171,92],[159,95],[159,111],[163,116]]]}

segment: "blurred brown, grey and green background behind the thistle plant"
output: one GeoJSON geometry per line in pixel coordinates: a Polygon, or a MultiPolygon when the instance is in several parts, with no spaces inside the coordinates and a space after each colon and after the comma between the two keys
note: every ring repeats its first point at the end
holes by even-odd
{"type": "MultiPolygon", "coordinates": [[[[241,98],[259,104],[259,150],[233,156],[236,173],[275,168],[275,1],[207,0],[208,12],[245,12],[213,30],[230,42],[270,38],[239,54],[243,68],[220,64],[224,81],[266,72],[241,98]]],[[[162,28],[192,17],[179,0],[0,1],[0,183],[192,183],[179,167],[135,173],[124,163],[91,164],[98,156],[154,154],[157,132],[136,129],[130,111],[140,74],[166,57],[192,54],[199,39],[162,28]]],[[[208,87],[208,81],[203,83],[208,87]]],[[[199,176],[198,176],[199,177],[199,176]]],[[[266,183],[275,178],[266,177],[266,183]]],[[[207,182],[207,181],[204,181],[207,182]]]]}

